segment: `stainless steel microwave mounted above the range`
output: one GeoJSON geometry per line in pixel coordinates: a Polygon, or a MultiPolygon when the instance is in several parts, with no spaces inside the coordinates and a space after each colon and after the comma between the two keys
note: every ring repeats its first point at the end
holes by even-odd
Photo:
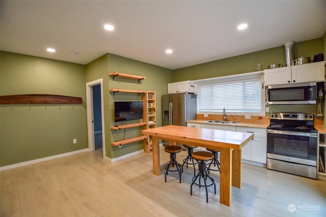
{"type": "Polygon", "coordinates": [[[268,105],[316,104],[316,86],[316,82],[270,85],[268,105]]]}

